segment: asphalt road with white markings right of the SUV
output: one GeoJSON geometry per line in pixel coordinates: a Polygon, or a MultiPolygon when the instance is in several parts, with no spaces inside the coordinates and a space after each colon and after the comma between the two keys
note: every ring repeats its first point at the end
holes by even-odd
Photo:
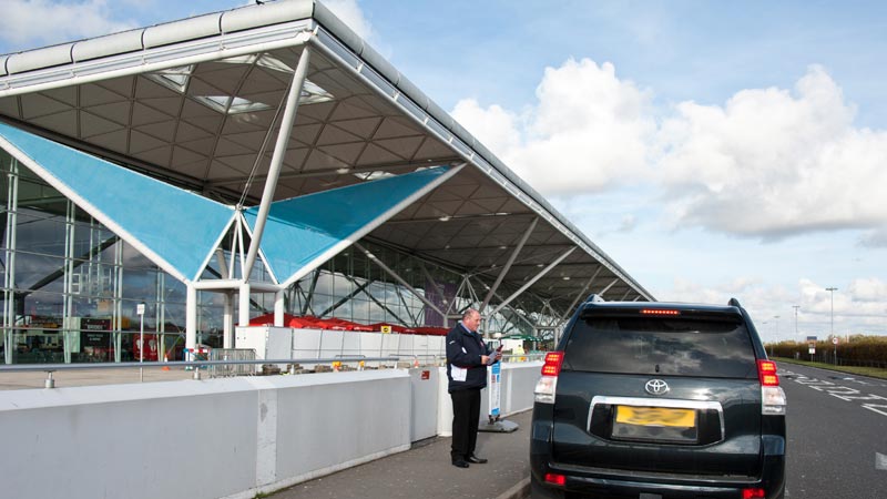
{"type": "Polygon", "coordinates": [[[786,497],[887,497],[887,381],[783,363],[786,497]]]}

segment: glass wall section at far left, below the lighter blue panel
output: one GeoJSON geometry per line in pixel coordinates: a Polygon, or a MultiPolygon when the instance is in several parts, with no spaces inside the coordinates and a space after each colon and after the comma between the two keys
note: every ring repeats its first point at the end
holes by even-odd
{"type": "Polygon", "coordinates": [[[142,318],[145,359],[181,356],[185,286],[3,151],[0,212],[6,363],[137,360],[142,318]]]}

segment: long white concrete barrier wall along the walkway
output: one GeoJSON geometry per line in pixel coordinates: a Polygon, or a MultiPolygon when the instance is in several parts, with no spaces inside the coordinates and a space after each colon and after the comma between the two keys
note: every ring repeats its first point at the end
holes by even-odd
{"type": "MultiPolygon", "coordinates": [[[[532,407],[539,366],[503,365],[503,415],[532,407]]],[[[0,489],[246,499],[448,436],[451,421],[442,367],[7,390],[0,489]]]]}

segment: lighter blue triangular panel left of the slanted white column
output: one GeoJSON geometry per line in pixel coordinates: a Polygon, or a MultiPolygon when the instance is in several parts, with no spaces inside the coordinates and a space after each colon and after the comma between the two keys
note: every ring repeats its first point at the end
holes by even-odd
{"type": "Polygon", "coordinates": [[[0,145],[182,281],[196,281],[234,208],[0,123],[0,145]]]}

